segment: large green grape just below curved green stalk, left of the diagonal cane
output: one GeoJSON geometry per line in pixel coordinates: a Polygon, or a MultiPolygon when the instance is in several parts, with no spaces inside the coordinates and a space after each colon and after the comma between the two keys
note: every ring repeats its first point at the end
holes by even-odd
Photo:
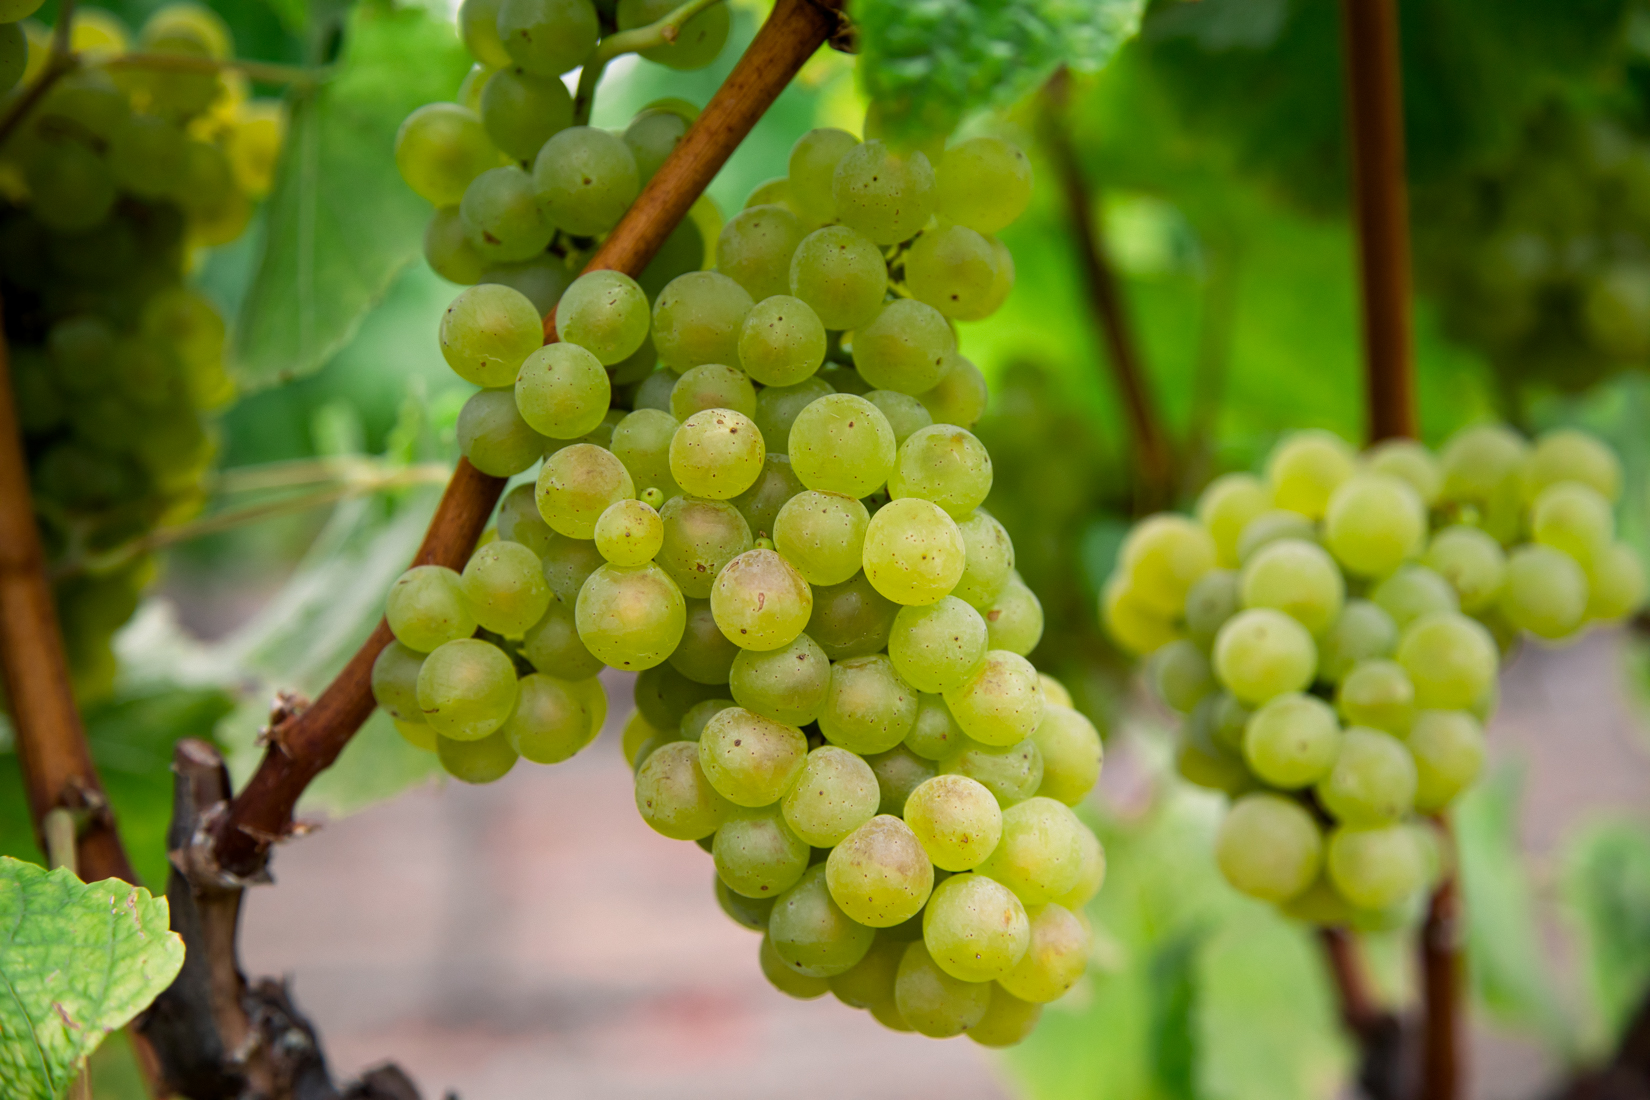
{"type": "MultiPolygon", "coordinates": [[[[521,2],[533,0],[505,0],[521,2]]],[[[546,216],[579,237],[617,226],[640,186],[624,139],[591,125],[558,130],[533,160],[533,188],[546,216]]]]}

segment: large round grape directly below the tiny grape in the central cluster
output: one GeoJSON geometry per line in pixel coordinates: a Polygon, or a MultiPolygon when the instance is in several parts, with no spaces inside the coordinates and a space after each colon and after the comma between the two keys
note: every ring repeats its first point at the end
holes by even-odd
{"type": "Polygon", "coordinates": [[[639,671],[660,665],[686,628],[686,604],[655,564],[602,566],[579,589],[579,638],[602,663],[639,671]]]}

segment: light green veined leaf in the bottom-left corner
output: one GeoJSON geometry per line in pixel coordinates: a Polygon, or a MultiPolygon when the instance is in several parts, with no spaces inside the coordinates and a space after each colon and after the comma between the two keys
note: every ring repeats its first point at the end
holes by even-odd
{"type": "Polygon", "coordinates": [[[0,1080],[15,1100],[56,1100],[102,1037],[183,966],[167,899],[68,869],[0,858],[0,1080]]]}

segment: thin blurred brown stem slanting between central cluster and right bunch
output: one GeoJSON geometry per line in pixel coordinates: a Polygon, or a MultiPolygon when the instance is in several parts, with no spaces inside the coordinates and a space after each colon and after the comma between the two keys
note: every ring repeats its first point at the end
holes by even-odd
{"type": "Polygon", "coordinates": [[[1167,508],[1175,496],[1175,454],[1163,427],[1162,411],[1152,397],[1145,378],[1140,343],[1135,338],[1129,310],[1124,303],[1117,272],[1112,270],[1106,251],[1104,231],[1094,211],[1094,195],[1082,178],[1082,163],[1071,142],[1066,109],[1071,99],[1071,74],[1059,69],[1043,86],[1048,110],[1043,112],[1041,137],[1059,173],[1059,190],[1066,200],[1066,214],[1077,237],[1077,254],[1089,290],[1089,303],[1101,323],[1106,341],[1106,360],[1112,368],[1112,381],[1124,402],[1129,419],[1129,437],[1134,449],[1137,477],[1137,511],[1167,508]]]}

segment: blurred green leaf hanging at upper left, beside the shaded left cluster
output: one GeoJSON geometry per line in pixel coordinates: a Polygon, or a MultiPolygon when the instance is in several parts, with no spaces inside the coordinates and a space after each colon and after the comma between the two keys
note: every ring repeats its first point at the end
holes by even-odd
{"type": "Polygon", "coordinates": [[[469,66],[452,26],[422,8],[355,7],[338,74],[292,104],[264,254],[236,327],[243,391],[320,368],[419,256],[431,208],[396,172],[396,129],[449,99],[469,66]]]}

